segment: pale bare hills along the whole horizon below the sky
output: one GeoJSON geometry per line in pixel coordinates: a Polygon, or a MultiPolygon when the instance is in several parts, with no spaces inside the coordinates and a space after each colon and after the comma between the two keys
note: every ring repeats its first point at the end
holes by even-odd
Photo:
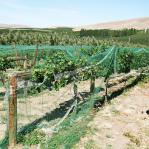
{"type": "MultiPolygon", "coordinates": [[[[27,25],[18,25],[18,24],[0,24],[0,29],[5,28],[32,28],[27,25]]],[[[57,30],[69,30],[72,27],[64,26],[49,26],[47,29],[57,29],[57,30]]],[[[149,17],[138,18],[138,19],[129,19],[123,21],[113,21],[105,23],[97,23],[93,25],[84,25],[73,28],[73,31],[80,31],[81,29],[86,30],[95,30],[95,29],[112,29],[112,30],[121,30],[121,29],[149,29],[149,17]]]]}

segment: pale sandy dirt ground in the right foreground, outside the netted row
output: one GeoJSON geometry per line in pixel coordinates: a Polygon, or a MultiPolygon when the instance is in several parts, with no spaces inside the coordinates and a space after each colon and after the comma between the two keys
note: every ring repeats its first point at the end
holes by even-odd
{"type": "Polygon", "coordinates": [[[100,109],[75,148],[149,149],[148,110],[149,83],[137,85],[100,109]]]}

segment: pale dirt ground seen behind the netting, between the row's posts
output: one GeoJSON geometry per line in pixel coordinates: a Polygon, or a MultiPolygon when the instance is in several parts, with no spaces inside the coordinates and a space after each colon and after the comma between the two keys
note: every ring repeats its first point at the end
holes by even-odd
{"type": "MultiPolygon", "coordinates": [[[[102,80],[96,80],[99,86],[102,80]]],[[[90,81],[78,83],[78,92],[89,92],[90,81]]],[[[0,91],[4,91],[3,88],[0,91]]],[[[44,91],[39,95],[27,98],[18,98],[18,130],[25,125],[39,120],[38,127],[52,125],[60,120],[64,111],[58,109],[60,105],[69,102],[74,97],[73,83],[61,88],[59,91],[44,91]]],[[[71,102],[66,104],[69,108],[71,102]]],[[[7,112],[3,109],[3,100],[0,100],[0,139],[5,136],[7,112]]],[[[66,108],[67,110],[67,108],[66,108]]],[[[46,130],[46,129],[45,129],[46,130]]]]}

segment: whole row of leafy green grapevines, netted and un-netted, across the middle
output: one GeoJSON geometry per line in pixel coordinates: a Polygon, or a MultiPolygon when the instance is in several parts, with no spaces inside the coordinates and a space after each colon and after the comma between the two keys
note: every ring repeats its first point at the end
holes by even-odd
{"type": "MultiPolygon", "coordinates": [[[[27,64],[34,59],[34,50],[19,51],[17,54],[27,58],[27,64]],[[19,53],[20,52],[20,53],[19,53]]],[[[15,53],[15,52],[14,52],[15,53]]],[[[15,54],[10,56],[14,56],[15,54]]],[[[122,47],[65,47],[40,49],[36,65],[27,70],[32,72],[32,81],[44,82],[44,89],[59,89],[75,80],[105,77],[113,73],[127,73],[131,69],[148,66],[149,50],[122,47]],[[101,62],[101,63],[100,63],[101,62]],[[98,64],[99,63],[99,64],[98,64]],[[73,75],[71,75],[73,74],[73,75]]],[[[8,56],[0,58],[0,70],[9,68],[21,70],[23,63],[18,64],[8,56]]],[[[42,86],[43,87],[43,86],[42,86]]],[[[40,91],[40,89],[38,89],[40,91]]]]}

